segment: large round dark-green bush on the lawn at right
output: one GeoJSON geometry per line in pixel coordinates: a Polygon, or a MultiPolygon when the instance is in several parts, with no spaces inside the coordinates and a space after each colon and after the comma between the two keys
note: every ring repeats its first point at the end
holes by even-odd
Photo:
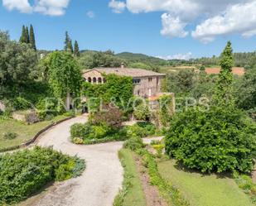
{"type": "Polygon", "coordinates": [[[188,168],[202,172],[253,169],[256,127],[234,108],[191,108],[177,113],[167,132],[166,151],[188,168]]]}

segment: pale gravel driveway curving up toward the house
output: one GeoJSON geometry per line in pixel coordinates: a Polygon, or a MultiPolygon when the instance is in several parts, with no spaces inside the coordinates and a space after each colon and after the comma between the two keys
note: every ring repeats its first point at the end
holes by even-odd
{"type": "Polygon", "coordinates": [[[86,116],[72,118],[43,133],[38,146],[53,146],[70,156],[86,161],[85,172],[78,178],[55,184],[32,205],[36,206],[111,206],[122,187],[123,167],[118,160],[122,142],[83,146],[70,142],[70,126],[86,122],[86,116]]]}

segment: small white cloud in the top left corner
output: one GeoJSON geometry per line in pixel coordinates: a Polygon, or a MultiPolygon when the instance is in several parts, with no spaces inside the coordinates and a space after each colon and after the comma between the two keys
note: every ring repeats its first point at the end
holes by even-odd
{"type": "Polygon", "coordinates": [[[2,0],[2,6],[6,7],[7,10],[12,11],[17,9],[23,13],[31,13],[32,7],[28,0],[2,0]]]}

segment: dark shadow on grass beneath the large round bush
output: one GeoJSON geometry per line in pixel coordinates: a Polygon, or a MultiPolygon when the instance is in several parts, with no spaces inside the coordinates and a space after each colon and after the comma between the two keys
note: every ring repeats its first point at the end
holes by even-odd
{"type": "Polygon", "coordinates": [[[174,159],[171,159],[171,160],[173,161],[173,165],[176,168],[176,170],[182,170],[184,172],[191,173],[191,174],[192,173],[199,174],[199,175],[201,175],[201,177],[203,177],[203,176],[210,176],[210,175],[216,175],[216,177],[218,179],[226,179],[226,178],[233,179],[233,176],[232,176],[231,172],[217,173],[215,171],[213,173],[206,173],[206,172],[204,173],[204,172],[201,172],[200,170],[187,168],[185,165],[182,164],[181,161],[174,160],[174,159]]]}

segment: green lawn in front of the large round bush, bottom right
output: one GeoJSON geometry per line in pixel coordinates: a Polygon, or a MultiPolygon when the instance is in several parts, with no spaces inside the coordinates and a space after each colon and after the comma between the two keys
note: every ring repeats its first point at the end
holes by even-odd
{"type": "Polygon", "coordinates": [[[177,170],[173,160],[158,164],[162,177],[181,191],[191,206],[252,206],[233,179],[177,170]]]}

